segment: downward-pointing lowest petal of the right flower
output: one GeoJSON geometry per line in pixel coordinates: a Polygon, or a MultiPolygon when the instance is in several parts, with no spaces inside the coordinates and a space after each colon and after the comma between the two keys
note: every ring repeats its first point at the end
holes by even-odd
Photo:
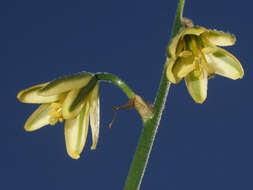
{"type": "Polygon", "coordinates": [[[208,73],[202,70],[202,74],[195,76],[194,71],[185,77],[187,89],[195,102],[202,104],[207,97],[208,73]]]}

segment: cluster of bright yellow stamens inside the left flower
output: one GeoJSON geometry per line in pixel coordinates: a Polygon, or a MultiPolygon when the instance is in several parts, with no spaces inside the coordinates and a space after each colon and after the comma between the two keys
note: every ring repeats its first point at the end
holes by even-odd
{"type": "Polygon", "coordinates": [[[50,125],[55,125],[58,121],[63,122],[62,106],[60,103],[51,103],[51,110],[48,112],[50,115],[50,125]]]}

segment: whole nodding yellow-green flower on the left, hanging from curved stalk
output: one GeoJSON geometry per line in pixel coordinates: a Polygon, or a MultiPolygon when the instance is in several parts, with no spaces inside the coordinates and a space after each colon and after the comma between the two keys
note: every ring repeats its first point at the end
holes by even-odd
{"type": "Polygon", "coordinates": [[[99,134],[99,82],[93,74],[81,72],[39,84],[22,90],[17,98],[24,103],[42,104],[27,119],[26,131],[66,120],[67,152],[72,158],[78,159],[86,142],[90,120],[91,149],[96,148],[99,134]]]}

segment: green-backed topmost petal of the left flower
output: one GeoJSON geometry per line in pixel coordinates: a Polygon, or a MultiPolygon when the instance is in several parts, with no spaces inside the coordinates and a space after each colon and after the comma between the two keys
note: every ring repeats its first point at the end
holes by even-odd
{"type": "Polygon", "coordinates": [[[72,89],[82,88],[86,86],[92,78],[92,74],[88,72],[80,72],[74,75],[61,77],[50,82],[44,88],[41,88],[39,94],[41,96],[51,96],[67,92],[72,89]]]}

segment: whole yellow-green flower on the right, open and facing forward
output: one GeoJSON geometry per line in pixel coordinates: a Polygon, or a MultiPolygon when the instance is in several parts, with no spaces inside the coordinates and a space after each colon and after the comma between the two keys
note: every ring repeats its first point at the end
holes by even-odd
{"type": "Polygon", "coordinates": [[[168,47],[166,75],[170,82],[185,79],[192,98],[203,103],[207,97],[208,78],[218,74],[233,80],[244,75],[240,62],[218,46],[231,46],[232,34],[203,27],[189,27],[175,36],[168,47]]]}

